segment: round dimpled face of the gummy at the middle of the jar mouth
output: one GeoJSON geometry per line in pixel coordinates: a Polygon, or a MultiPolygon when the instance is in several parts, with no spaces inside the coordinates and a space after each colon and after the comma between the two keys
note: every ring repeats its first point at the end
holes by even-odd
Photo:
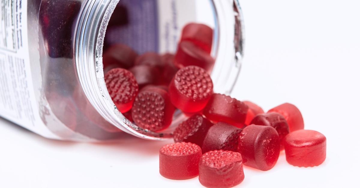
{"type": "Polygon", "coordinates": [[[188,98],[202,100],[213,93],[213,83],[206,70],[197,66],[180,69],[174,78],[177,90],[188,98]]]}

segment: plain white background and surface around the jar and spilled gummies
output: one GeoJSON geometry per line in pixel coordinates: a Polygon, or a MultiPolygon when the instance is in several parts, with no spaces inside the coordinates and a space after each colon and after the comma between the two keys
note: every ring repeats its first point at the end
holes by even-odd
{"type": "MultiPolygon", "coordinates": [[[[246,51],[233,97],[268,110],[296,104],[306,129],[327,137],[315,168],[244,167],[238,187],[357,187],[360,106],[360,1],[242,0],[246,51]]],[[[167,142],[131,136],[107,144],[51,141],[0,119],[0,187],[201,187],[158,173],[167,142]]]]}

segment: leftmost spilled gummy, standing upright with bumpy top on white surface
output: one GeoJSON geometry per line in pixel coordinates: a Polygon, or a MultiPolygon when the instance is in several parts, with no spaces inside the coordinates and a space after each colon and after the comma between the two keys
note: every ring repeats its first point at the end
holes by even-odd
{"type": "Polygon", "coordinates": [[[183,180],[199,174],[201,148],[193,143],[178,142],[159,151],[160,174],[168,179],[183,180]]]}

